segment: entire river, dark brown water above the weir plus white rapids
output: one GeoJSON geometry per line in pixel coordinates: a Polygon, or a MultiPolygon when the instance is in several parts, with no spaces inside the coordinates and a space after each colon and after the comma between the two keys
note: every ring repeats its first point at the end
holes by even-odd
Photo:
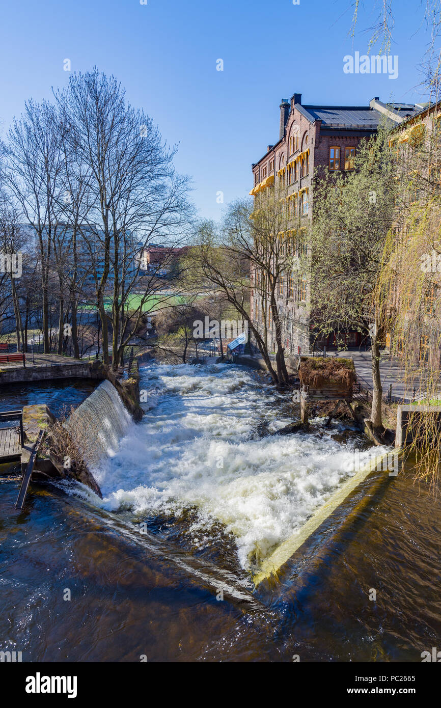
{"type": "MultiPolygon", "coordinates": [[[[240,367],[152,365],[142,387],[142,423],[94,470],[102,501],[35,483],[17,511],[19,478],[0,476],[0,650],[420,662],[441,648],[440,503],[413,485],[410,464],[369,476],[277,581],[253,590],[250,569],[348,479],[354,450],[370,450],[340,423],[273,435],[292,420],[289,397],[240,367]]],[[[56,389],[43,388],[2,392],[1,409],[51,407],[56,389]]]]}

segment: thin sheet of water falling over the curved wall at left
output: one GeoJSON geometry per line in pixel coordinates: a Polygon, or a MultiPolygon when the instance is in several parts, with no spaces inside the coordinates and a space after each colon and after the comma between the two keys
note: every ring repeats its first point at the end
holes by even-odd
{"type": "Polygon", "coordinates": [[[71,414],[66,428],[91,467],[115,455],[131,420],[113,384],[103,381],[71,414]]]}

